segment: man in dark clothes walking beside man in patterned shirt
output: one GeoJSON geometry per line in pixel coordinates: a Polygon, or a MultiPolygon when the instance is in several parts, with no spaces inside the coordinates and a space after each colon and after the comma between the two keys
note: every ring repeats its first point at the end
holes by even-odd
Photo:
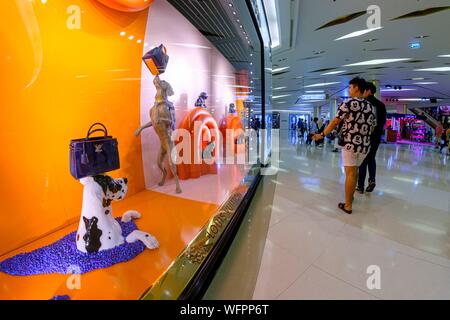
{"type": "Polygon", "coordinates": [[[376,92],[377,88],[375,85],[368,82],[364,97],[375,109],[377,126],[370,137],[370,151],[359,167],[358,186],[356,187],[356,191],[361,194],[364,193],[367,168],[369,168],[369,186],[367,187],[366,192],[373,192],[375,189],[377,174],[377,162],[375,158],[377,156],[378,147],[381,143],[381,136],[383,135],[384,126],[386,125],[386,106],[383,102],[375,98],[376,92]]]}

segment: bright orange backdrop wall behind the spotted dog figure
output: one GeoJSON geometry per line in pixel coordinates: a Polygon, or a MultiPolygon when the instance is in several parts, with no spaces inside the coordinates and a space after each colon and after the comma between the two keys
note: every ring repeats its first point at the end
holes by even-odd
{"type": "Polygon", "coordinates": [[[93,0],[0,1],[0,255],[78,219],[69,142],[94,122],[119,140],[112,175],[129,178],[129,195],[144,190],[133,132],[147,15],[93,0]]]}

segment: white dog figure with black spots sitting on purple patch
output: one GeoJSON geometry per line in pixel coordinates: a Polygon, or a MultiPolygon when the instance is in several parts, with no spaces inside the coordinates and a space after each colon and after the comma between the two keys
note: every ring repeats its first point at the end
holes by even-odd
{"type": "MultiPolygon", "coordinates": [[[[98,175],[80,180],[84,186],[83,206],[77,232],[77,248],[81,252],[95,253],[120,246],[127,241],[142,241],[148,249],[157,249],[158,240],[152,235],[136,230],[126,239],[122,228],[112,215],[112,201],[122,200],[128,191],[128,180],[98,175]]],[[[138,219],[137,211],[127,211],[122,222],[138,219]]]]}

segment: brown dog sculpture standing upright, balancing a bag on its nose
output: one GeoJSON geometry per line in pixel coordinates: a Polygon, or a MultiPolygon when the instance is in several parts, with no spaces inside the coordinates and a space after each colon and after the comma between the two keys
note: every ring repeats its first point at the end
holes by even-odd
{"type": "Polygon", "coordinates": [[[166,182],[167,170],[164,168],[164,160],[167,156],[169,159],[170,170],[175,178],[176,193],[181,193],[180,181],[178,179],[177,167],[172,159],[172,150],[175,145],[172,141],[172,132],[175,130],[175,107],[169,101],[168,97],[173,96],[174,92],[172,86],[157,76],[153,80],[156,87],[155,104],[150,109],[150,122],[139,128],[135,132],[135,136],[139,135],[147,128],[153,127],[161,142],[161,147],[158,154],[158,168],[161,170],[162,179],[159,183],[163,186],[166,182]]]}

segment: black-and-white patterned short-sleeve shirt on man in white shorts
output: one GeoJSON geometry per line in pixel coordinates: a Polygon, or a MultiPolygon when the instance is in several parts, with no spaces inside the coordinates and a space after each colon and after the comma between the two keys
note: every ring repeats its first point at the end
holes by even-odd
{"type": "Polygon", "coordinates": [[[375,108],[370,102],[349,99],[339,107],[336,117],[343,121],[343,148],[355,153],[368,153],[370,135],[376,126],[375,108]]]}

